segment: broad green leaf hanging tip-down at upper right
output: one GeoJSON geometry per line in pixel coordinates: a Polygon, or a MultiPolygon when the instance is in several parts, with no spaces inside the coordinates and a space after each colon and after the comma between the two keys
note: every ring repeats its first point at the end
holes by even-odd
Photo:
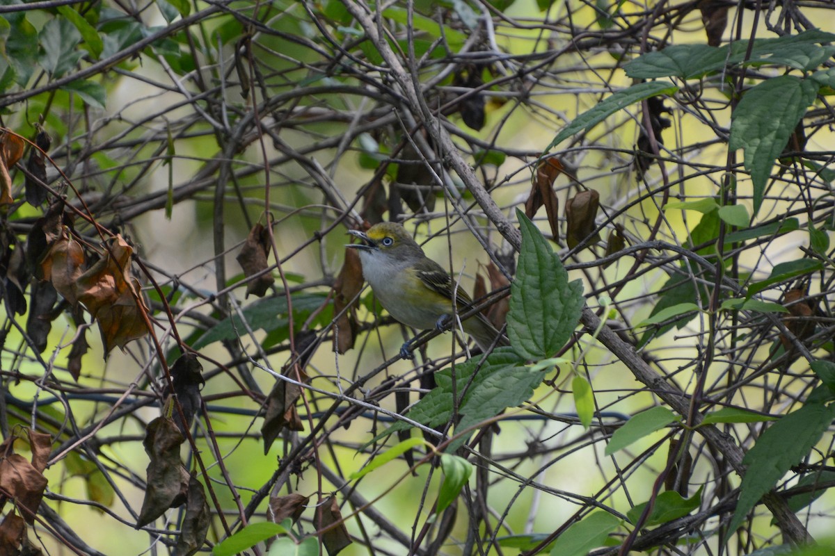
{"type": "Polygon", "coordinates": [[[774,160],[816,96],[815,83],[782,75],[749,89],[731,114],[728,148],[745,151],[745,168],[754,187],[754,216],[762,205],[774,160]]]}

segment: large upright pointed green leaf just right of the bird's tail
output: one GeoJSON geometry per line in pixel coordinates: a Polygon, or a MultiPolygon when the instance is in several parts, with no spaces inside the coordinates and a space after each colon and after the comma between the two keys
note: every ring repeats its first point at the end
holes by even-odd
{"type": "Polygon", "coordinates": [[[522,230],[519,270],[510,285],[508,336],[524,359],[553,357],[569,340],[583,310],[583,286],[568,273],[534,223],[517,210],[522,230]]]}

